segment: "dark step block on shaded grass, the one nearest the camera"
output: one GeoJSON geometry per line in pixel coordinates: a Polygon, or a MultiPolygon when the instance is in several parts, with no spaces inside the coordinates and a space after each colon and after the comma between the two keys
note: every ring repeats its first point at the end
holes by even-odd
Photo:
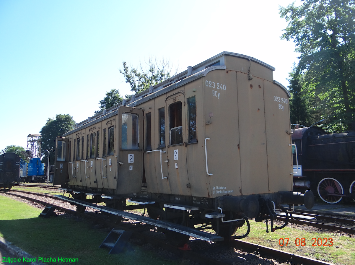
{"type": "Polygon", "coordinates": [[[133,231],[124,231],[118,228],[112,228],[99,248],[109,248],[109,254],[120,253],[125,247],[127,241],[131,238],[132,233],[133,231]]]}

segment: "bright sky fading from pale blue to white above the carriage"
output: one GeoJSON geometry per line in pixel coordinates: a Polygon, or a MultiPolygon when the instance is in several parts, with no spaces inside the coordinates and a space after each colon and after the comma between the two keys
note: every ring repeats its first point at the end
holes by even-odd
{"type": "Polygon", "coordinates": [[[274,66],[287,86],[297,54],[280,40],[278,6],[291,2],[0,0],[0,150],[26,148],[56,114],[87,119],[113,88],[132,94],[122,61],[152,56],[183,71],[235,52],[274,66]]]}

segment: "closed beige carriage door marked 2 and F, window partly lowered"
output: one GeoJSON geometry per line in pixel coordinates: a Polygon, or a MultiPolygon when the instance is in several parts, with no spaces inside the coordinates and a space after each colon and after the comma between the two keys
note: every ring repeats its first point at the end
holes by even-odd
{"type": "Polygon", "coordinates": [[[168,110],[168,156],[169,183],[173,194],[191,195],[186,165],[186,101],[181,91],[166,98],[168,110]]]}

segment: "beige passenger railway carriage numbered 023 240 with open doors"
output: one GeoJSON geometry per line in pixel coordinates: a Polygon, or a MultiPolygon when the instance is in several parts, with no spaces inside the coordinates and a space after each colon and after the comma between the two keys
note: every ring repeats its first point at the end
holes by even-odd
{"type": "Polygon", "coordinates": [[[290,94],[274,70],[223,52],[88,118],[57,139],[54,185],[116,209],[155,202],[148,213],[172,222],[195,207],[185,225],[218,223],[224,236],[245,216],[273,219],[272,202],[311,207],[290,192],[290,94]]]}

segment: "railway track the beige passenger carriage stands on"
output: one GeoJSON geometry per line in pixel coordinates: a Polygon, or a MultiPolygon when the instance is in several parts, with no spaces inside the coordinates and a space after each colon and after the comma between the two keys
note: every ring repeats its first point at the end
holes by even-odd
{"type": "MultiPolygon", "coordinates": [[[[75,206],[51,195],[37,194],[29,191],[0,191],[0,193],[4,193],[10,196],[17,196],[44,206],[55,206],[57,211],[77,215],[110,228],[116,227],[126,231],[133,231],[133,237],[138,240],[141,240],[141,242],[148,242],[149,244],[152,244],[158,248],[165,249],[176,256],[190,259],[200,264],[225,265],[245,261],[252,264],[258,264],[257,262],[259,259],[266,259],[262,257],[263,255],[273,256],[273,258],[279,259],[281,260],[281,262],[288,261],[291,262],[291,264],[331,264],[324,261],[283,252],[281,250],[264,247],[262,245],[245,242],[238,239],[233,239],[228,242],[220,243],[211,243],[199,239],[192,239],[189,243],[189,246],[191,246],[191,250],[185,251],[176,248],[166,242],[166,240],[161,239],[162,233],[157,231],[157,229],[155,229],[155,227],[153,227],[152,225],[129,221],[124,221],[116,225],[101,218],[104,215],[100,215],[100,218],[98,218],[97,216],[90,215],[90,212],[76,212],[75,206]],[[204,247],[201,248],[201,245],[203,245],[204,247]],[[241,251],[240,248],[242,248],[243,250],[241,251]],[[235,251],[236,249],[238,251],[235,251]],[[224,253],[223,258],[221,260],[215,260],[211,258],[211,256],[218,256],[218,253],[221,252],[224,253]],[[225,253],[230,254],[225,255],[225,253]]],[[[220,256],[218,257],[220,258],[220,256]]]]}

